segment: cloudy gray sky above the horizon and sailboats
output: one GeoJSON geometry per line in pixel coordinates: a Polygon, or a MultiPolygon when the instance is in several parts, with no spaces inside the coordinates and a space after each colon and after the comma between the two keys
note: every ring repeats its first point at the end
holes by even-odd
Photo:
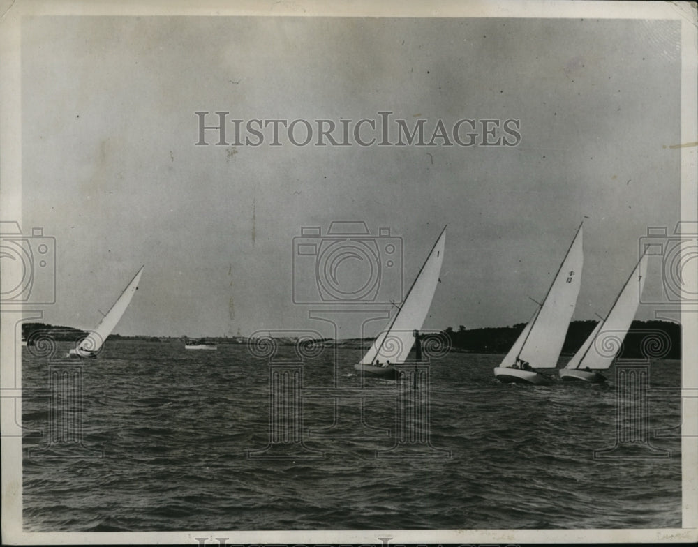
{"type": "MultiPolygon", "coordinates": [[[[528,296],[544,297],[584,216],[574,319],[605,314],[639,238],[678,220],[679,38],[676,22],[641,20],[27,18],[23,227],[57,239],[45,320],[94,327],[145,264],[121,334],[318,329],[307,313],[322,306],[292,301],[293,238],[364,220],[403,238],[406,287],[448,224],[426,328],[514,324],[533,313],[528,296]],[[216,110],[390,111],[426,119],[429,134],[438,119],[513,118],[522,138],[195,146],[194,112],[216,110]]],[[[661,283],[654,260],[647,299],[661,299],[661,283]]]]}

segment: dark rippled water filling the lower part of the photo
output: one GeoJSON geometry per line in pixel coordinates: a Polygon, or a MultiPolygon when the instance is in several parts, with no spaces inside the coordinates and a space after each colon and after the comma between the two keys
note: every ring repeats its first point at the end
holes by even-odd
{"type": "Polygon", "coordinates": [[[72,364],[23,350],[27,531],[681,527],[680,361],[651,361],[640,428],[617,423],[613,368],[500,384],[501,355],[450,353],[406,403],[400,382],[362,384],[358,348],[281,346],[271,366],[179,340],[72,364]],[[301,407],[270,397],[278,366],[301,371],[283,388],[301,407]],[[82,403],[52,407],[51,370],[80,370],[82,403]]]}

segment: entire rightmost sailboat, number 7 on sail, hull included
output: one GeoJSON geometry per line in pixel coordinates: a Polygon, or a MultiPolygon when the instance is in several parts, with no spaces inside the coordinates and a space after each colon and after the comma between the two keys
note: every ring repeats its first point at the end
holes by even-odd
{"type": "Polygon", "coordinates": [[[563,380],[582,380],[584,382],[602,383],[606,378],[597,370],[607,370],[615,359],[614,354],[601,353],[596,347],[596,340],[612,337],[613,343],[622,343],[630,329],[633,317],[639,306],[640,295],[645,284],[647,257],[642,255],[618,293],[616,301],[605,319],[597,323],[574,357],[565,368],[560,369],[563,380]],[[634,280],[635,283],[631,283],[634,280]]]}

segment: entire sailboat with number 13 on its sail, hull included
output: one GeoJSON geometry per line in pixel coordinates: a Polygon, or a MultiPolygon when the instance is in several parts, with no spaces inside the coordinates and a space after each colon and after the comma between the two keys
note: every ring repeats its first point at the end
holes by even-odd
{"type": "Polygon", "coordinates": [[[583,263],[580,224],[540,308],[523,328],[502,364],[494,368],[497,380],[505,383],[550,383],[549,376],[533,369],[557,366],[574,306],[577,305],[583,263]]]}

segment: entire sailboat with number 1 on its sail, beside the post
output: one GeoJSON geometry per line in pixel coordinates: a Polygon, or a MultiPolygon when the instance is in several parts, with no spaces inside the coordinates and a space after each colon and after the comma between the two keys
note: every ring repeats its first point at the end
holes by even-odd
{"type": "Polygon", "coordinates": [[[373,376],[395,377],[395,369],[390,365],[407,359],[429,313],[439,281],[445,241],[444,226],[390,326],[376,337],[363,359],[354,366],[356,370],[373,376]]]}

